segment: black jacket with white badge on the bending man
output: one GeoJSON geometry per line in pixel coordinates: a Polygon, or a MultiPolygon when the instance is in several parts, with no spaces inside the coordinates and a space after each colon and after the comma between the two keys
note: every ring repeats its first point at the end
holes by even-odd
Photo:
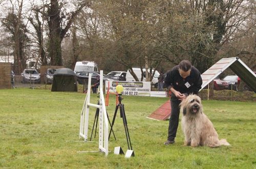
{"type": "Polygon", "coordinates": [[[164,83],[168,89],[173,87],[176,91],[189,95],[198,94],[203,82],[200,72],[194,66],[191,67],[190,75],[183,79],[177,65],[167,73],[164,83]]]}

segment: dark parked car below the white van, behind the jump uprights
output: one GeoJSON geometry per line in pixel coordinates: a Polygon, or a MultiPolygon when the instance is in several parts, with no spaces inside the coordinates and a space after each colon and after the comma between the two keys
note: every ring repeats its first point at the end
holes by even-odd
{"type": "MultiPolygon", "coordinates": [[[[94,83],[96,83],[97,77],[100,76],[98,72],[77,72],[76,73],[77,82],[82,85],[88,84],[89,73],[92,73],[91,84],[93,85],[94,83]]],[[[105,80],[116,81],[116,79],[103,75],[103,81],[105,80]]]]}

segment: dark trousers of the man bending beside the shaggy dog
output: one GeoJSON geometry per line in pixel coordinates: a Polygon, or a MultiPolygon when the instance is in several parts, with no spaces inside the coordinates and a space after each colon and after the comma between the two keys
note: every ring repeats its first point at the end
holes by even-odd
{"type": "Polygon", "coordinates": [[[180,116],[180,100],[172,93],[170,98],[170,107],[171,115],[169,119],[169,127],[168,127],[168,140],[172,141],[176,137],[178,125],[179,125],[179,116],[180,116]]]}

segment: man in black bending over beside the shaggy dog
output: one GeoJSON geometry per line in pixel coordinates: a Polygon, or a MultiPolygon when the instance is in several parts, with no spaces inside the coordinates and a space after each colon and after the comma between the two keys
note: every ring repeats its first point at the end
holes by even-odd
{"type": "Polygon", "coordinates": [[[200,72],[187,60],[183,60],[179,65],[169,71],[164,79],[168,90],[172,92],[170,106],[172,108],[169,119],[168,137],[165,145],[175,143],[175,137],[179,125],[180,102],[189,94],[198,94],[202,86],[200,72]]]}

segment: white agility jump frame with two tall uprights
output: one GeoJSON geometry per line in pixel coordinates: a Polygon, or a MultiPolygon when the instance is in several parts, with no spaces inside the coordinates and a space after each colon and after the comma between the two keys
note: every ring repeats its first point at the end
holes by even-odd
{"type": "MultiPolygon", "coordinates": [[[[84,100],[81,116],[80,116],[80,131],[79,138],[84,138],[87,141],[88,138],[88,123],[89,123],[89,111],[90,107],[99,108],[99,151],[102,151],[107,156],[109,154],[109,124],[108,116],[106,114],[105,100],[103,95],[103,71],[100,71],[100,85],[99,85],[99,105],[90,102],[91,96],[91,78],[92,74],[89,74],[88,91],[86,99],[84,100]]],[[[95,112],[95,111],[94,111],[95,112]]]]}

